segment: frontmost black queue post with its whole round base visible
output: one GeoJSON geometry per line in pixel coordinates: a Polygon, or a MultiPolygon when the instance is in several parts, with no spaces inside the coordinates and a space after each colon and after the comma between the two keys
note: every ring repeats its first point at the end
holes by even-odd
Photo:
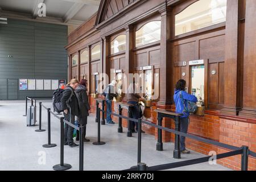
{"type": "Polygon", "coordinates": [[[64,121],[63,117],[60,118],[60,164],[56,164],[52,168],[55,171],[65,171],[72,166],[70,164],[64,164],[64,121]]]}

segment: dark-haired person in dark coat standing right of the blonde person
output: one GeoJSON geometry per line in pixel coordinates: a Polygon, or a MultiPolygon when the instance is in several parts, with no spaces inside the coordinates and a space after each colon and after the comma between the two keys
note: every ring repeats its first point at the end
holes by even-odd
{"type": "MultiPolygon", "coordinates": [[[[80,126],[84,126],[84,132],[82,133],[82,137],[84,138],[84,142],[90,142],[89,139],[85,138],[86,135],[86,125],[87,125],[87,117],[89,115],[90,105],[88,101],[87,95],[87,80],[81,80],[80,85],[75,90],[77,100],[79,102],[79,111],[80,114],[77,117],[80,126]]],[[[76,133],[76,140],[79,141],[79,130],[76,133]]]]}

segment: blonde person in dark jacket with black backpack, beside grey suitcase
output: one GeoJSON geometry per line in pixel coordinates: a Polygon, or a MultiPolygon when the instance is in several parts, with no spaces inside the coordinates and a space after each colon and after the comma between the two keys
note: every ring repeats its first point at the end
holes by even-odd
{"type": "MultiPolygon", "coordinates": [[[[63,107],[63,115],[66,121],[75,124],[75,116],[79,116],[79,104],[76,98],[74,90],[79,86],[79,81],[76,79],[71,80],[61,98],[61,106],[63,107]]],[[[64,145],[70,147],[77,147],[78,144],[74,143],[73,140],[73,127],[65,125],[64,130],[64,145]]]]}

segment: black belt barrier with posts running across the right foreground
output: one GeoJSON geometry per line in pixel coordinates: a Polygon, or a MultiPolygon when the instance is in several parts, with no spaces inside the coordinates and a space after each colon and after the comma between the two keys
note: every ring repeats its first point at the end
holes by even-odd
{"type": "MultiPolygon", "coordinates": [[[[98,108],[98,105],[96,105],[96,107],[97,107],[96,109],[100,109],[100,108],[98,108]]],[[[104,114],[106,112],[105,110],[102,110],[102,109],[100,109],[100,111],[102,112],[102,114],[104,114]]],[[[163,126],[155,125],[154,123],[148,122],[148,121],[146,121],[144,119],[141,119],[141,118],[140,119],[134,119],[134,118],[125,117],[125,116],[123,116],[121,114],[117,114],[117,113],[111,113],[111,114],[114,115],[115,117],[118,117],[118,118],[127,119],[127,121],[138,122],[138,127],[139,127],[139,129],[138,129],[139,130],[139,132],[138,132],[138,166],[131,167],[131,168],[125,169],[123,171],[165,170],[165,169],[171,169],[171,168],[177,168],[177,167],[183,167],[183,166],[190,166],[190,165],[193,165],[193,164],[204,163],[204,162],[208,162],[210,159],[228,158],[230,156],[235,156],[235,155],[241,155],[241,171],[247,171],[247,169],[248,169],[248,156],[251,155],[254,158],[256,158],[256,152],[250,151],[247,146],[236,147],[236,146],[232,146],[232,145],[229,145],[229,144],[217,142],[215,140],[210,140],[210,139],[198,137],[196,135],[182,133],[182,132],[176,131],[174,129],[168,129],[168,128],[163,127],[163,126]],[[160,129],[160,130],[164,130],[164,131],[168,131],[170,133],[174,133],[174,134],[178,135],[179,137],[183,136],[183,137],[191,138],[191,139],[194,139],[194,140],[198,140],[200,142],[213,144],[215,146],[226,148],[228,150],[233,150],[233,151],[226,152],[224,154],[206,156],[206,157],[199,158],[199,159],[185,160],[185,161],[182,161],[182,162],[168,163],[168,164],[162,164],[162,165],[158,165],[158,166],[147,167],[145,163],[141,163],[141,124],[142,123],[146,124],[146,125],[150,125],[152,127],[160,129]]]]}

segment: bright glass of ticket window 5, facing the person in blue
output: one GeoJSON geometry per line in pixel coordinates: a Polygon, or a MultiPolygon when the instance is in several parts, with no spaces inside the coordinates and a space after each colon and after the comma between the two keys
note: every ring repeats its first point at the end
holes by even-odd
{"type": "Polygon", "coordinates": [[[191,69],[191,94],[198,101],[204,101],[204,65],[196,65],[191,69]]]}

